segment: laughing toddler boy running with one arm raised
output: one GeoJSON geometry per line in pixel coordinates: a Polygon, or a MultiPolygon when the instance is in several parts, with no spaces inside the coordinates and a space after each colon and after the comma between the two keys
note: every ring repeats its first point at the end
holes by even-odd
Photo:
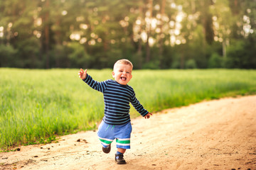
{"type": "Polygon", "coordinates": [[[102,143],[102,150],[109,153],[111,143],[117,139],[117,153],[115,161],[117,164],[126,164],[124,152],[130,149],[130,137],[132,132],[131,119],[129,115],[129,103],[144,117],[150,118],[151,113],[146,111],[135,97],[134,90],[127,83],[132,79],[132,62],[129,60],[118,60],[114,64],[112,77],[114,80],[95,81],[80,69],[79,77],[92,89],[103,93],[105,102],[105,115],[97,132],[102,143]]]}

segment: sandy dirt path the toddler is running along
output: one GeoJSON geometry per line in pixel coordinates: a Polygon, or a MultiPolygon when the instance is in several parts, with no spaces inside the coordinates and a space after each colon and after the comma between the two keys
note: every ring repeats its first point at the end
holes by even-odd
{"type": "Polygon", "coordinates": [[[0,153],[0,169],[256,169],[256,96],[169,109],[132,124],[125,165],[114,162],[115,142],[104,154],[88,131],[0,153]]]}

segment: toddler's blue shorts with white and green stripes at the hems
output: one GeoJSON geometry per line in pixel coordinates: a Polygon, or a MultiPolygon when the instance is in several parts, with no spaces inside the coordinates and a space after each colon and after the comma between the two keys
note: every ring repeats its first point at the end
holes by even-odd
{"type": "Polygon", "coordinates": [[[130,138],[132,133],[131,122],[125,125],[110,125],[102,121],[97,132],[103,147],[110,145],[117,139],[117,148],[130,149],[130,138]]]}

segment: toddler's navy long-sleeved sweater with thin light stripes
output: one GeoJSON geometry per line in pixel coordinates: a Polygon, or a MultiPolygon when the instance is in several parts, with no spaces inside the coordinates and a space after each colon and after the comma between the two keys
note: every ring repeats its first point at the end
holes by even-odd
{"type": "Polygon", "coordinates": [[[87,74],[83,79],[92,89],[100,91],[104,96],[105,115],[103,121],[111,125],[124,125],[131,121],[129,115],[129,103],[142,115],[145,116],[148,111],[144,109],[137,100],[134,89],[129,85],[122,85],[112,79],[106,81],[95,81],[87,74]]]}

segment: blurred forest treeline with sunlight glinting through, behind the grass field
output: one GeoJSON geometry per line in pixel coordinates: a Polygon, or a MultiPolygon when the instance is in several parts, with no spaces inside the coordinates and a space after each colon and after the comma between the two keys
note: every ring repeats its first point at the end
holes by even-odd
{"type": "Polygon", "coordinates": [[[0,0],[0,67],[255,69],[255,42],[255,0],[0,0]]]}

